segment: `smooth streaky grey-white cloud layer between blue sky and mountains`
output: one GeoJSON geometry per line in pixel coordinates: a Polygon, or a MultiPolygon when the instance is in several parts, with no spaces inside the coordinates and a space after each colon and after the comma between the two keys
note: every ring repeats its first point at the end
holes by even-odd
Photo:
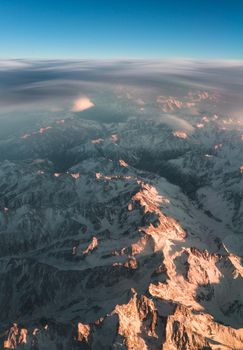
{"type": "MultiPolygon", "coordinates": [[[[1,114],[26,109],[90,108],[92,102],[77,95],[100,94],[112,87],[156,91],[158,95],[184,93],[184,88],[217,89],[230,94],[241,110],[243,91],[242,61],[199,60],[0,60],[1,114]]],[[[141,98],[142,96],[137,96],[141,98]]],[[[95,103],[96,104],[96,103],[95,103]]]]}

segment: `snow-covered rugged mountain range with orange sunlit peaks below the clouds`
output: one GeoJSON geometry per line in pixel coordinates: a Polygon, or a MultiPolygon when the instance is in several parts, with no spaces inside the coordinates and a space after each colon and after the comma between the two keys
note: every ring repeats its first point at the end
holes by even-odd
{"type": "MultiPolygon", "coordinates": [[[[214,98],[157,103],[168,112],[214,98]]],[[[214,114],[192,118],[193,135],[72,118],[0,143],[2,340],[243,349],[240,134],[214,114]]]]}

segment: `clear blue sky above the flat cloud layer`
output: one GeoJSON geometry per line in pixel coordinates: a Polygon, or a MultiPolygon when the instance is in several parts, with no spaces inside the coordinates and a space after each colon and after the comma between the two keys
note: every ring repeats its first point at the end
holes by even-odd
{"type": "Polygon", "coordinates": [[[0,0],[0,57],[243,59],[243,1],[0,0]]]}

